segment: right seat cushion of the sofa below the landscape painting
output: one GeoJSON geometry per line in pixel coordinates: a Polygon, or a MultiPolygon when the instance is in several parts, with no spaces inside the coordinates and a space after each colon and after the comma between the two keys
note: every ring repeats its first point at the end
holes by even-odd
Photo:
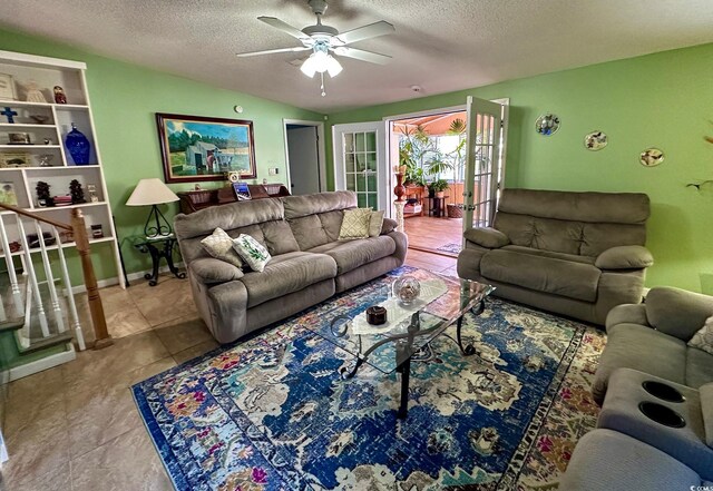
{"type": "Polygon", "coordinates": [[[338,274],[356,269],[367,263],[390,256],[397,249],[397,244],[388,235],[379,237],[359,238],[355,240],[340,240],[324,244],[311,249],[311,253],[326,254],[336,262],[338,274]]]}

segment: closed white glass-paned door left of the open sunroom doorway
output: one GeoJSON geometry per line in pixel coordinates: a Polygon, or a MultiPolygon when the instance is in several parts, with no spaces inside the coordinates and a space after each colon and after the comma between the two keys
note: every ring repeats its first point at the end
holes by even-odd
{"type": "Polygon", "coordinates": [[[384,122],[334,125],[332,145],[335,189],[353,190],[360,207],[385,209],[391,216],[384,122]]]}

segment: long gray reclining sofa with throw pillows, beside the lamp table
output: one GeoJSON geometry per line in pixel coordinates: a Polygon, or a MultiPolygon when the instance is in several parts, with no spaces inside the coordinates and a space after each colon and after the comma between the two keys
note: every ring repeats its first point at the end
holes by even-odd
{"type": "Polygon", "coordinates": [[[175,234],[196,306],[221,343],[315,305],[403,264],[407,237],[384,219],[381,235],[338,240],[351,192],[255,199],[177,215],[175,234]],[[201,240],[216,227],[247,234],[273,256],[262,273],[211,257],[201,240]]]}

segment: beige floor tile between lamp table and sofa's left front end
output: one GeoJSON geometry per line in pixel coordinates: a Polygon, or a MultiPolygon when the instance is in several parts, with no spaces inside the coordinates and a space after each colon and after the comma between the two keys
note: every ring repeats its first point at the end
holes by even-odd
{"type": "Polygon", "coordinates": [[[187,279],[168,278],[156,286],[145,283],[131,286],[128,292],[152,326],[197,315],[187,279]]]}

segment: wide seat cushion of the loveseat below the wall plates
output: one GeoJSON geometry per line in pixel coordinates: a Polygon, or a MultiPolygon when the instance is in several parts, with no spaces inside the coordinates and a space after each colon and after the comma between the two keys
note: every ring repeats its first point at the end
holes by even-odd
{"type": "Polygon", "coordinates": [[[519,251],[492,249],[480,261],[488,279],[594,302],[600,272],[589,264],[556,259],[519,251]]]}

